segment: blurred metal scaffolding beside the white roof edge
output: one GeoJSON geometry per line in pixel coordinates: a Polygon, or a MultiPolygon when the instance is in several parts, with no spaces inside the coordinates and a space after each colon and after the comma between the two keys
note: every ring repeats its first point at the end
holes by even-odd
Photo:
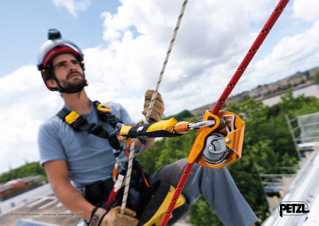
{"type": "Polygon", "coordinates": [[[263,191],[272,212],[288,192],[300,168],[308,160],[319,141],[319,112],[298,115],[289,119],[285,115],[293,144],[299,157],[299,164],[294,167],[272,167],[259,174],[263,191]]]}

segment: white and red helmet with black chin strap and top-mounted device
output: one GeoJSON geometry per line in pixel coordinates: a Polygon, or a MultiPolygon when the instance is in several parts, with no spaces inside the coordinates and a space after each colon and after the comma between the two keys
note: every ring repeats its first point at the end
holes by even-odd
{"type": "Polygon", "coordinates": [[[80,65],[84,71],[84,63],[83,57],[84,54],[82,53],[81,49],[78,48],[76,44],[71,41],[62,39],[60,32],[57,29],[49,29],[48,30],[48,41],[43,43],[40,47],[38,53],[38,70],[41,71],[42,79],[45,83],[49,78],[53,78],[56,80],[58,84],[58,88],[51,88],[45,83],[51,91],[59,91],[64,93],[77,93],[81,91],[85,86],[87,86],[87,82],[84,79],[83,84],[77,90],[68,90],[64,89],[60,86],[59,82],[57,81],[52,68],[52,59],[59,54],[62,53],[71,53],[74,57],[80,62],[80,65]]]}

